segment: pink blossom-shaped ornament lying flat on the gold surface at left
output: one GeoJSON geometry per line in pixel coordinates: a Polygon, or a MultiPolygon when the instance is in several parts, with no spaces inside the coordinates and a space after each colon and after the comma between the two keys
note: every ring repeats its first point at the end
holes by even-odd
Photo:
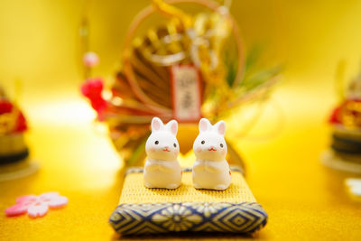
{"type": "Polygon", "coordinates": [[[43,217],[51,209],[59,209],[67,205],[68,199],[58,192],[46,192],[39,196],[25,195],[16,199],[16,204],[5,209],[8,217],[22,215],[25,212],[32,218],[43,217]]]}

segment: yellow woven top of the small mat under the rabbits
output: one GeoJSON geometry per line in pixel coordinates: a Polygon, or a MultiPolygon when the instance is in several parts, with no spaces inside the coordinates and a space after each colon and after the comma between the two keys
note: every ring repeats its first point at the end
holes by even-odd
{"type": "Polygon", "coordinates": [[[232,183],[225,191],[194,189],[191,171],[183,171],[181,185],[176,190],[147,189],[143,184],[143,172],[138,172],[127,175],[119,204],[193,201],[255,202],[255,197],[239,171],[232,171],[232,183]]]}

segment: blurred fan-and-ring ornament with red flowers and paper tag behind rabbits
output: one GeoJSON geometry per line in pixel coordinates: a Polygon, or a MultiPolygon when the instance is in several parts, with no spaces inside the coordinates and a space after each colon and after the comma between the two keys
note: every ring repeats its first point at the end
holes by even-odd
{"type": "MultiPolygon", "coordinates": [[[[88,49],[87,14],[80,27],[85,65],[82,93],[97,111],[97,119],[108,125],[128,165],[140,165],[145,159],[153,116],[176,119],[180,126],[197,125],[202,117],[217,122],[247,102],[264,100],[281,70],[257,65],[260,51],[248,51],[245,57],[229,5],[211,0],[152,2],[135,16],[126,33],[121,68],[108,97],[104,79],[92,75],[99,60],[88,49]],[[188,7],[197,9],[196,13],[188,7]],[[154,15],[162,22],[152,22],[154,15]],[[152,27],[144,31],[147,23],[152,27]]],[[[227,140],[228,160],[241,163],[234,141],[227,140]]],[[[182,144],[180,153],[190,149],[191,145],[182,144]]]]}

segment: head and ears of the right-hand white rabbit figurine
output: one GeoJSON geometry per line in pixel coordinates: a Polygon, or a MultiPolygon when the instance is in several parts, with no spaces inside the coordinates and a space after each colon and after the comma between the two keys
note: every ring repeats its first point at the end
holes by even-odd
{"type": "Polygon", "coordinates": [[[211,125],[206,118],[199,121],[199,135],[193,144],[193,152],[197,159],[223,161],[227,155],[227,144],[224,138],[226,123],[219,121],[211,125]]]}

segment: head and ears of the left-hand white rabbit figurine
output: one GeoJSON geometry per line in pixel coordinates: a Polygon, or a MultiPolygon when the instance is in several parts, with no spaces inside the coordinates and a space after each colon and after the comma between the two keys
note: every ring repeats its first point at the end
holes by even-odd
{"type": "Polygon", "coordinates": [[[162,120],[154,117],[152,120],[152,134],[145,144],[145,152],[148,158],[174,161],[180,152],[180,144],[177,141],[178,123],[171,120],[163,125],[162,120]]]}

